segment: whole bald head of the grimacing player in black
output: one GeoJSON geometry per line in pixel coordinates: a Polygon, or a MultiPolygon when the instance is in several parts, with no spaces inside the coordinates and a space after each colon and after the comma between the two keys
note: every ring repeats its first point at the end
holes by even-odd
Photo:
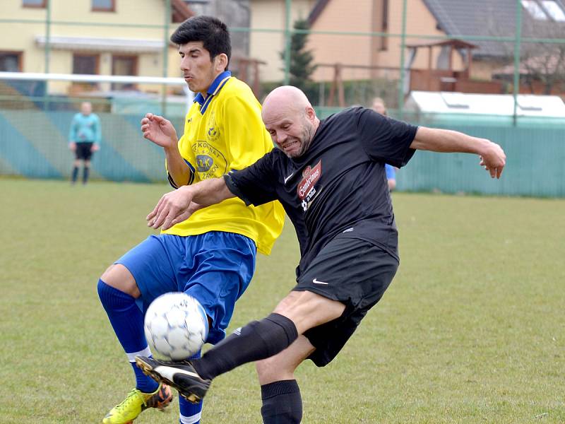
{"type": "Polygon", "coordinates": [[[290,158],[307,151],[320,124],[306,95],[292,86],[275,88],[267,95],[262,117],[275,145],[290,158]]]}

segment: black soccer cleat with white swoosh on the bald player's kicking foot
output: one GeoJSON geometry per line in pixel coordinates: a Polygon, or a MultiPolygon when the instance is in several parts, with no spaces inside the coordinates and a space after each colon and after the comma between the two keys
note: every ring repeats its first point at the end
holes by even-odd
{"type": "Polygon", "coordinates": [[[136,356],[136,364],[146,375],[174,387],[184,399],[193,404],[198,404],[210,388],[210,380],[200,377],[188,360],[173,362],[136,356]]]}

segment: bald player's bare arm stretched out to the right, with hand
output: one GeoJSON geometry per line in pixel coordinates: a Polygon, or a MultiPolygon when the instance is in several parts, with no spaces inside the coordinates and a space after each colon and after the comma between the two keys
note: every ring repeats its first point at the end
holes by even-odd
{"type": "Polygon", "coordinates": [[[480,155],[480,165],[492,178],[500,178],[506,165],[506,155],[498,144],[449,129],[420,126],[410,148],[444,153],[476,153],[480,155]]]}

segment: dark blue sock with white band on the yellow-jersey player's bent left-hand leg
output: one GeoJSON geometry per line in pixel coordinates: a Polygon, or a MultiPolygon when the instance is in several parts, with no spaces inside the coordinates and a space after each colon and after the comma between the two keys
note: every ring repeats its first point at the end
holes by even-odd
{"type": "Polygon", "coordinates": [[[98,297],[108,314],[121,347],[126,351],[136,375],[136,388],[144,393],[153,393],[159,384],[136,367],[136,355],[151,355],[143,332],[143,313],[136,305],[136,300],[102,280],[98,281],[98,297]]]}

